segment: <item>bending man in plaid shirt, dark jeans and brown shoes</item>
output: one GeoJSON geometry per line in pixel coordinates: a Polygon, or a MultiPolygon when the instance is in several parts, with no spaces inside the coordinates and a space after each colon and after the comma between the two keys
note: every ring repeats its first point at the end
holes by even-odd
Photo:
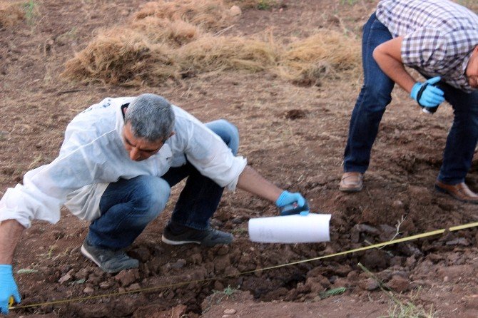
{"type": "Polygon", "coordinates": [[[478,16],[448,0],[381,0],[364,26],[364,84],[350,120],[340,190],[362,190],[370,150],[395,83],[419,106],[448,101],[454,120],[435,188],[478,203],[464,183],[478,140],[478,16]],[[405,66],[425,78],[417,82],[405,66]]]}

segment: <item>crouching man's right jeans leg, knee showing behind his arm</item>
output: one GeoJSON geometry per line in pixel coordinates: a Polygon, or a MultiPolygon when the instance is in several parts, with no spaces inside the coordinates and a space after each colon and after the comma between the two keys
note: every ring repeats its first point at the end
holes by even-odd
{"type": "MultiPolygon", "coordinates": [[[[239,132],[235,125],[227,120],[215,120],[205,124],[223,139],[234,155],[238,153],[239,132]]],[[[217,210],[224,188],[210,178],[201,175],[189,162],[177,168],[170,168],[163,175],[171,188],[180,180],[188,177],[178,202],[173,210],[171,222],[175,225],[205,230],[209,227],[210,217],[217,210]]]]}

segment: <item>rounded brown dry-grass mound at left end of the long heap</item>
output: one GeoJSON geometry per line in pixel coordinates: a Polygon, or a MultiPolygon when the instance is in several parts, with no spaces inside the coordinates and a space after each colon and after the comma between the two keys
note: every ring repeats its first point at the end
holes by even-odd
{"type": "Polygon", "coordinates": [[[63,75],[78,81],[136,86],[178,78],[179,73],[170,47],[151,43],[133,30],[112,29],[67,61],[63,75]]]}

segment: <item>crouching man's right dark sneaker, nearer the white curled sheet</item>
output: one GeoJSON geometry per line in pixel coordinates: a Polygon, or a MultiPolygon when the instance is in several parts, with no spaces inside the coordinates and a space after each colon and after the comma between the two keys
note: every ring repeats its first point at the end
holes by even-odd
{"type": "Polygon", "coordinates": [[[164,229],[161,240],[170,245],[195,243],[203,246],[214,246],[218,244],[230,244],[230,242],[233,242],[233,238],[232,234],[215,230],[212,227],[208,228],[208,230],[188,228],[178,234],[174,234],[168,225],[164,229]]]}

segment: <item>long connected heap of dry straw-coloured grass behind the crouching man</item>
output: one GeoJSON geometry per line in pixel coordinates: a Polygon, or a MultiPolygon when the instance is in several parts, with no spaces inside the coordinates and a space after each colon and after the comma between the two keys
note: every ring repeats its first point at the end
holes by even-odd
{"type": "Polygon", "coordinates": [[[66,62],[62,75],[83,82],[159,86],[211,71],[270,71],[293,83],[319,85],[360,65],[359,43],[337,32],[322,31],[288,46],[272,36],[219,35],[237,17],[222,0],[150,2],[126,27],[98,34],[66,62]]]}

